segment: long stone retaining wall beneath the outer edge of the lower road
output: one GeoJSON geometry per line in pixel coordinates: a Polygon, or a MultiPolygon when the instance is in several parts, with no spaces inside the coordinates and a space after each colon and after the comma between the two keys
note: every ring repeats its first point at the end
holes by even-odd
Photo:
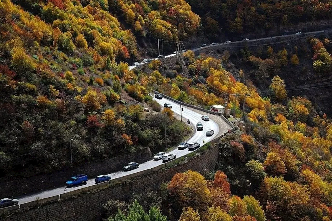
{"type": "Polygon", "coordinates": [[[154,173],[134,178],[131,181],[115,184],[110,188],[100,190],[95,193],[77,196],[64,200],[42,205],[38,208],[31,208],[28,211],[15,212],[10,217],[3,220],[20,221],[90,221],[100,220],[102,213],[102,203],[109,199],[127,200],[132,194],[141,193],[148,188],[156,190],[163,182],[169,182],[176,173],[187,170],[198,171],[205,174],[215,168],[218,160],[218,145],[201,153],[198,157],[193,157],[188,162],[169,169],[161,169],[154,173]]]}

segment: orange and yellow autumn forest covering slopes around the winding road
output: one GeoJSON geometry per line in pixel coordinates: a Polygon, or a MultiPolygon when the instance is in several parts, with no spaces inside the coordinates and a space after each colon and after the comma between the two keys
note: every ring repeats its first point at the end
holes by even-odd
{"type": "Polygon", "coordinates": [[[187,50],[171,64],[157,59],[129,70],[133,59],[150,58],[145,52],[159,38],[173,48],[179,39],[215,40],[220,28],[241,36],[265,25],[330,21],[331,7],[319,0],[0,0],[0,171],[30,178],[146,147],[168,151],[165,143],[177,146],[192,129],[152,99],[155,90],[205,109],[227,104],[237,130],[215,144],[215,170],[178,173],[130,201],[110,200],[104,220],[332,220],[331,116],[305,93],[290,96],[297,88],[283,79],[304,72],[330,79],[332,36],[187,50]]]}

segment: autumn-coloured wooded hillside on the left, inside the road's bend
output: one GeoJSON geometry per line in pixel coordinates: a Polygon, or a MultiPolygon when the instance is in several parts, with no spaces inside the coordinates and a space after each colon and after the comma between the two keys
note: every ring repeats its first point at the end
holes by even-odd
{"type": "MultiPolygon", "coordinates": [[[[116,60],[135,53],[135,37],[106,3],[20,4],[41,18],[0,1],[1,171],[32,176],[145,146],[165,150],[164,122],[169,145],[188,133],[171,114],[157,113],[158,105],[145,113],[138,102],[121,102],[136,76],[116,60]]],[[[150,103],[146,89],[139,96],[150,103]]]]}

